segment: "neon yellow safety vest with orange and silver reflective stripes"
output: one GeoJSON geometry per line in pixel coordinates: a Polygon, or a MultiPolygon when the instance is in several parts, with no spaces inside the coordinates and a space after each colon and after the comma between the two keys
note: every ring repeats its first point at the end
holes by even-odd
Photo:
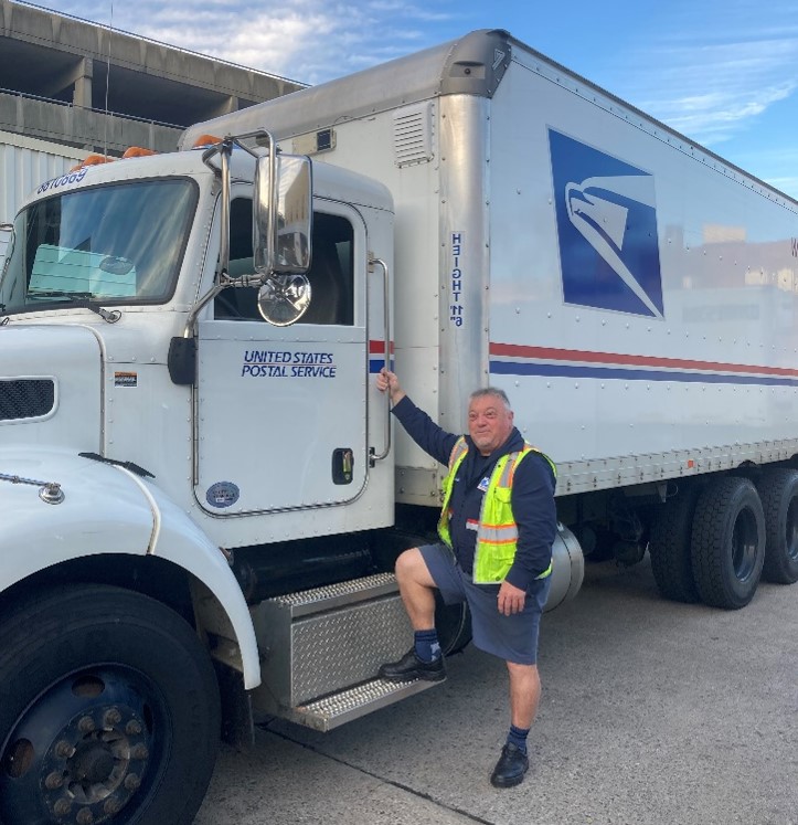
{"type": "MultiPolygon", "coordinates": [[[[451,449],[449,456],[449,473],[444,478],[444,504],[438,521],[438,535],[451,547],[449,532],[449,499],[454,487],[455,476],[468,453],[468,443],[461,436],[451,449]]],[[[515,467],[529,453],[542,455],[551,465],[556,478],[557,468],[554,462],[538,447],[524,443],[523,449],[501,456],[493,467],[488,483],[488,489],[482,498],[477,528],[477,544],[474,554],[474,582],[476,584],[494,584],[502,582],[510,572],[518,549],[518,525],[512,515],[512,478],[515,467]]],[[[538,579],[551,575],[551,563],[538,579]]]]}

